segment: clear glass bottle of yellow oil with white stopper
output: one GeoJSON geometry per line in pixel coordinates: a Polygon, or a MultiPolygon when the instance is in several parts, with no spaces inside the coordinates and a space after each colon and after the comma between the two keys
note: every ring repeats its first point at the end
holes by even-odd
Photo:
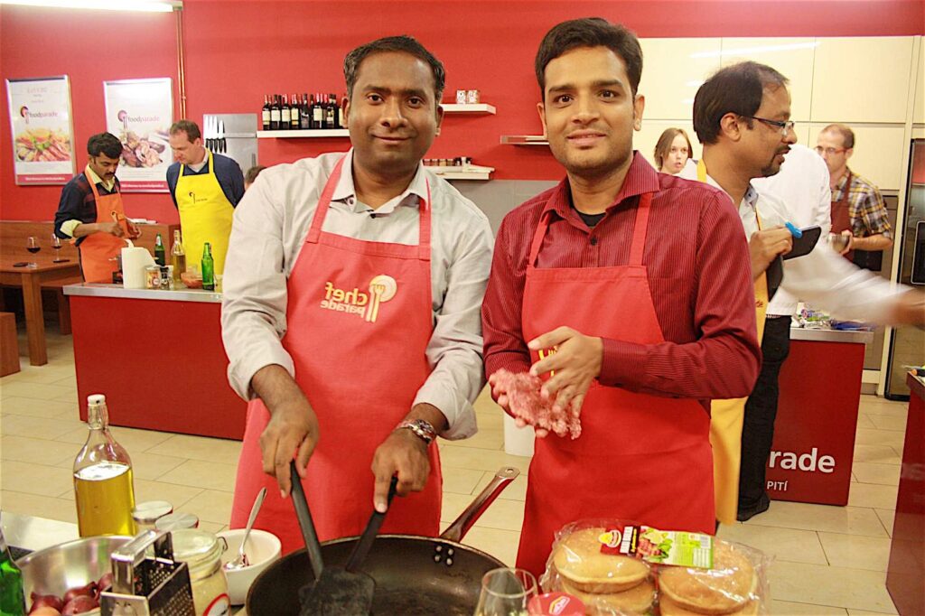
{"type": "Polygon", "coordinates": [[[135,488],[131,459],[109,432],[106,397],[87,398],[90,435],[74,460],[74,496],[80,536],[134,535],[135,488]]]}

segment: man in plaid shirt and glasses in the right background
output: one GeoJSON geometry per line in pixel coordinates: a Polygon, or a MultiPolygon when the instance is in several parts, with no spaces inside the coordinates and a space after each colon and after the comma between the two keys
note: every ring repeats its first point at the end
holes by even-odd
{"type": "Polygon", "coordinates": [[[848,168],[848,159],[855,152],[854,130],[844,124],[830,124],[819,133],[816,152],[829,167],[832,232],[847,238],[842,254],[857,265],[879,270],[879,259],[878,265],[870,266],[867,258],[855,251],[887,250],[893,246],[893,229],[880,189],[848,168]]]}

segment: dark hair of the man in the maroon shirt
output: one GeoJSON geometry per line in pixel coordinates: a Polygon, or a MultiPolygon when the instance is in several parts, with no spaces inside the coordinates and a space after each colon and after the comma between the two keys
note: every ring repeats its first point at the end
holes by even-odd
{"type": "Polygon", "coordinates": [[[536,51],[536,82],[546,95],[546,65],[560,55],[579,47],[607,47],[623,59],[630,88],[635,96],[642,79],[642,47],[633,31],[604,18],[583,18],[563,21],[553,26],[543,37],[536,51]]]}

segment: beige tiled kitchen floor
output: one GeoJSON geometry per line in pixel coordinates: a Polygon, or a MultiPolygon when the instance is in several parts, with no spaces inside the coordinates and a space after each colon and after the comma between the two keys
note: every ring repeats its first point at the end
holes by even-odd
{"type": "MultiPolygon", "coordinates": [[[[24,351],[23,340],[20,348],[24,351]]],[[[49,332],[49,363],[0,379],[0,508],[76,521],[69,468],[86,437],[77,417],[70,337],[49,332]]],[[[500,466],[526,474],[528,460],[503,451],[501,415],[483,394],[480,431],[441,444],[443,521],[449,523],[500,466]]],[[[773,502],[720,536],[765,551],[771,564],[771,610],[778,614],[894,614],[884,587],[906,404],[864,396],[857,429],[854,483],[847,507],[773,502]]],[[[114,428],[135,467],[137,498],[166,499],[199,515],[203,528],[228,523],[240,443],[114,428]]],[[[503,492],[465,542],[512,563],[524,516],[525,476],[503,492]]]]}

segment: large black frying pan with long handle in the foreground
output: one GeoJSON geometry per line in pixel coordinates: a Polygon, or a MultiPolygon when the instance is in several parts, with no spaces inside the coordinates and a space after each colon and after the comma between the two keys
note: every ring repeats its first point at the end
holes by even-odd
{"type": "MultiPolygon", "coordinates": [[[[372,613],[472,616],[482,590],[482,576],[505,565],[460,541],[518,474],[516,468],[501,468],[441,536],[377,536],[361,568],[376,580],[372,613]]],[[[323,543],[325,566],[343,567],[358,539],[353,536],[323,543]]],[[[247,594],[248,616],[298,614],[299,589],[313,581],[307,552],[300,549],[288,554],[253,581],[247,594]]]]}

